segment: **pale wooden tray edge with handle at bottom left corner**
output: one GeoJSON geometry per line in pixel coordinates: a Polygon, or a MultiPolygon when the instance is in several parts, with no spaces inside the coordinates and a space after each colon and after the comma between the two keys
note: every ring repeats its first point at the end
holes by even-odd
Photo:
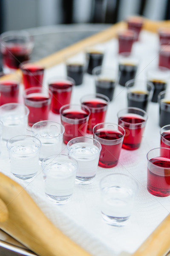
{"type": "Polygon", "coordinates": [[[91,256],[43,214],[29,194],[0,173],[0,228],[40,256],[91,256]]]}

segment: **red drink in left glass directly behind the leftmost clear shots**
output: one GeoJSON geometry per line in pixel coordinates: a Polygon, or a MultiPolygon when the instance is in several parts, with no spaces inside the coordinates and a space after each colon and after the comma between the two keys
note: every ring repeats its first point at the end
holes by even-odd
{"type": "Polygon", "coordinates": [[[48,120],[49,97],[43,96],[41,93],[31,93],[26,96],[24,103],[29,108],[29,126],[32,126],[35,122],[48,120]]]}

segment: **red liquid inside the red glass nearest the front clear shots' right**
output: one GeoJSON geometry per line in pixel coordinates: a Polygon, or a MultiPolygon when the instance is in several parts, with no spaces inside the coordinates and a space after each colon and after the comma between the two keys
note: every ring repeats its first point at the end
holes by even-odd
{"type": "Polygon", "coordinates": [[[112,131],[99,129],[94,134],[94,139],[101,143],[101,154],[98,166],[111,168],[118,164],[118,159],[121,153],[122,141],[118,143],[118,139],[122,138],[121,131],[112,131]],[[97,138],[99,137],[99,139],[97,138]],[[107,141],[104,141],[107,140],[107,141]]]}

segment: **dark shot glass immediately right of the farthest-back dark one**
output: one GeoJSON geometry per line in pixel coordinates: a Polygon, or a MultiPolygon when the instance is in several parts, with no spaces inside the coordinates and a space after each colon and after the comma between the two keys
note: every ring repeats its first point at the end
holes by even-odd
{"type": "Polygon", "coordinates": [[[118,59],[118,84],[125,86],[126,82],[135,79],[139,59],[129,53],[122,53],[118,59]]]}

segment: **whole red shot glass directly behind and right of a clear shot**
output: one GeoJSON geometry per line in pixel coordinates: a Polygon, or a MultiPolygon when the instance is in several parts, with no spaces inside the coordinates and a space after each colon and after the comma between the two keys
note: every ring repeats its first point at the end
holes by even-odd
{"type": "Polygon", "coordinates": [[[101,154],[98,165],[112,168],[118,164],[125,130],[120,125],[100,123],[93,128],[95,140],[101,143],[101,154]]]}

